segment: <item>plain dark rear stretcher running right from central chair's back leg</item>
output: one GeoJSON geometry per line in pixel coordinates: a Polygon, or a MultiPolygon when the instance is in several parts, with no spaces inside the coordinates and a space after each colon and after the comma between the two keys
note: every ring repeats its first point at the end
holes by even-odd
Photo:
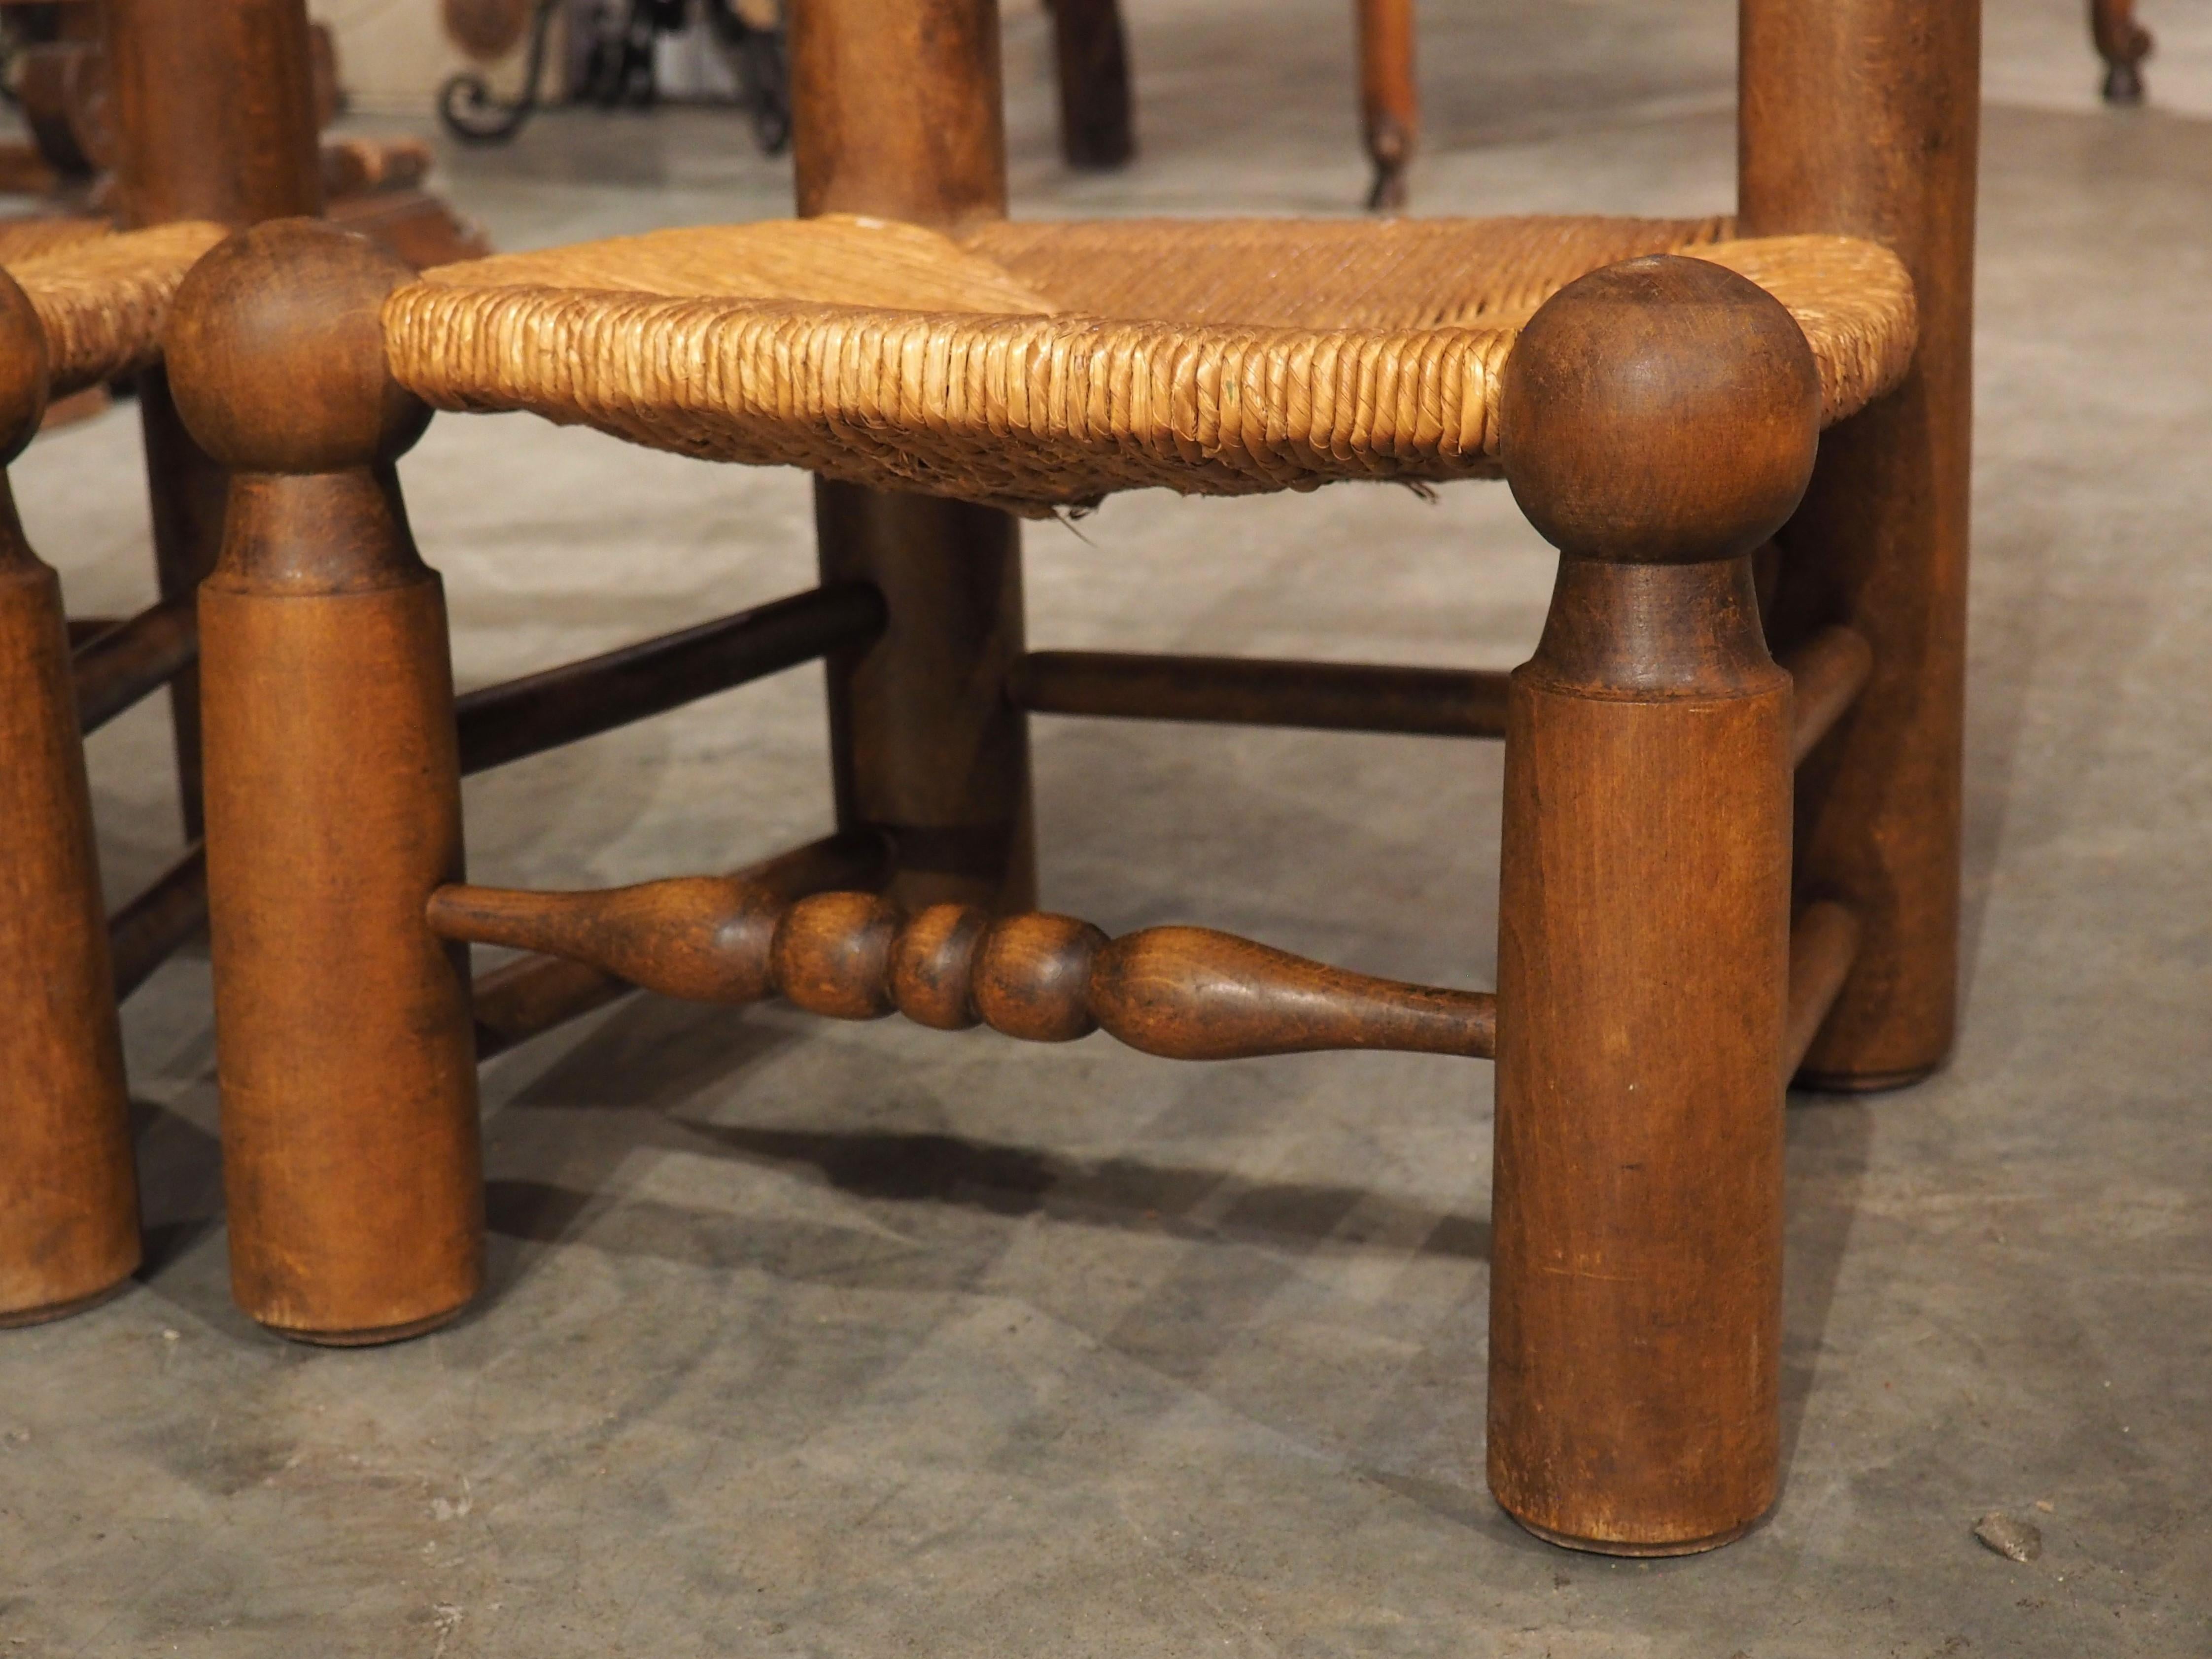
{"type": "Polygon", "coordinates": [[[1033,714],[1504,737],[1506,679],[1475,668],[1031,650],[1009,697],[1033,714]]]}

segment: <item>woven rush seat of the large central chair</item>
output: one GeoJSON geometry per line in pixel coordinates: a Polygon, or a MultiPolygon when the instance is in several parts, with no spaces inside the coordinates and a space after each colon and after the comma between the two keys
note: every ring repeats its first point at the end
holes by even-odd
{"type": "Polygon", "coordinates": [[[1725,219],[989,223],[823,217],[445,265],[385,303],[438,409],[529,409],[686,456],[1044,515],[1498,476],[1500,372],[1562,285],[1683,252],[1805,330],[1825,418],[1913,354],[1898,259],[1725,219]]]}

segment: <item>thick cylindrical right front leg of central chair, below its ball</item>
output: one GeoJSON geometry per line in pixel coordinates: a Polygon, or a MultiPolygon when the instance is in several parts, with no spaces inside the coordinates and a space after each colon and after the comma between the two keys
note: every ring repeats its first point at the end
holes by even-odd
{"type": "Polygon", "coordinates": [[[1506,726],[1491,1486],[1672,1555],[1774,1500],[1790,681],[1747,560],[1566,557],[1553,617],[1506,726]],[[1621,684],[1624,633],[1677,679],[1621,684]]]}

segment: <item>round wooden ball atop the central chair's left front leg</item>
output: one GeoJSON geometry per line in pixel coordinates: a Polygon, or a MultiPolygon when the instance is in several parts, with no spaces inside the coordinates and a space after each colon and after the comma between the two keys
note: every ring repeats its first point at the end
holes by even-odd
{"type": "Polygon", "coordinates": [[[201,449],[254,473],[403,456],[429,409],[392,378],[383,303],[409,281],[398,254],[319,219],[272,219],[201,259],[164,341],[201,449]]]}

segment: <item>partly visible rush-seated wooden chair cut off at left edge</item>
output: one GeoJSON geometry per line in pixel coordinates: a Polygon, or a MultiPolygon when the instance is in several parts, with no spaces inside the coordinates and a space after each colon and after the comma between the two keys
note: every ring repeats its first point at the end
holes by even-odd
{"type": "MultiPolygon", "coordinates": [[[[206,922],[199,847],[102,914],[84,734],[170,686],[186,836],[199,836],[192,591],[228,478],[177,420],[168,301],[232,228],[321,206],[305,15],[283,0],[106,0],[128,223],[0,226],[0,438],[49,398],[135,380],[159,602],[64,624],[60,584],[0,511],[0,1325],[53,1318],[139,1261],[115,1006],[206,922]]],[[[7,502],[0,480],[0,504],[7,502]]]]}

